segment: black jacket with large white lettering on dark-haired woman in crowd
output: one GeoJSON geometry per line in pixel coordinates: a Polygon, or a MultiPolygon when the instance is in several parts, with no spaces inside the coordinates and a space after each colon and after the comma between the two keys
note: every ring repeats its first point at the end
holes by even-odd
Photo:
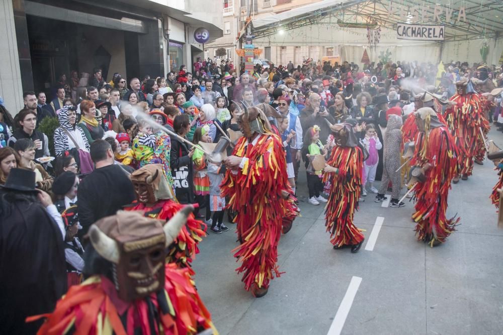
{"type": "Polygon", "coordinates": [[[171,170],[175,184],[175,192],[180,203],[194,202],[194,178],[192,176],[192,159],[189,155],[189,148],[187,145],[176,137],[171,137],[171,170]],[[180,171],[181,167],[187,167],[180,171]],[[181,183],[186,180],[188,187],[180,187],[181,183]],[[179,186],[179,187],[177,187],[179,186]]]}

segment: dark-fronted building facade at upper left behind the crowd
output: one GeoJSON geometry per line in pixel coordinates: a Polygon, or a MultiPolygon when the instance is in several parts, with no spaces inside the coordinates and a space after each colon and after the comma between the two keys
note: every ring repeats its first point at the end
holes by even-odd
{"type": "MultiPolygon", "coordinates": [[[[194,31],[209,41],[222,34],[222,8],[203,0],[4,0],[0,18],[0,96],[12,114],[23,107],[23,91],[44,91],[72,71],[79,77],[102,69],[106,81],[118,72],[165,76],[203,55],[194,31]],[[204,9],[204,13],[201,9],[204,9]]],[[[219,3],[220,4],[220,3],[219,3]]]]}

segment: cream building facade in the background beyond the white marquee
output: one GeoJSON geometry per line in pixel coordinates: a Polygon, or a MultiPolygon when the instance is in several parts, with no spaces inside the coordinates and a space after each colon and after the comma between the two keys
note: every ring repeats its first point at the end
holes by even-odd
{"type": "MultiPolygon", "coordinates": [[[[279,14],[294,8],[316,3],[320,0],[222,0],[223,36],[204,46],[205,58],[214,59],[216,50],[224,48],[226,56],[234,64],[239,64],[239,56],[235,49],[239,48],[237,36],[246,21],[246,9],[250,9],[251,19],[279,14]]],[[[339,56],[339,47],[336,46],[304,46],[290,45],[288,43],[257,43],[256,48],[262,51],[258,58],[272,61],[275,65],[286,65],[291,60],[295,66],[302,65],[302,60],[312,58],[321,60],[324,56],[339,56]]]]}

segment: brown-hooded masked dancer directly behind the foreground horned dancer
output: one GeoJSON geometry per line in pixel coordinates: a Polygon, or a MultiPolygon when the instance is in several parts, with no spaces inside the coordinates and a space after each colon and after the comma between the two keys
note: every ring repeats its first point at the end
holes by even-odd
{"type": "MultiPolygon", "coordinates": [[[[124,208],[139,210],[144,216],[161,220],[170,219],[184,207],[176,202],[165,178],[161,178],[161,164],[148,164],[131,173],[130,178],[136,193],[136,201],[124,208]]],[[[199,253],[198,243],[206,236],[206,225],[190,214],[180,234],[168,248],[167,263],[176,263],[180,268],[188,268],[189,274],[195,274],[191,267],[192,260],[199,253]]]]}

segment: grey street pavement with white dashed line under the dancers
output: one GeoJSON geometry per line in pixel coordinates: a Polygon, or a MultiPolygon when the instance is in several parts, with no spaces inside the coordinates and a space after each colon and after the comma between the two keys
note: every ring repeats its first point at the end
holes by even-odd
{"type": "MultiPolygon", "coordinates": [[[[503,148],[501,132],[493,129],[489,138],[503,148]]],[[[246,292],[235,272],[234,224],[201,242],[195,280],[216,328],[224,335],[503,333],[503,230],[488,198],[498,178],[493,168],[486,159],[467,181],[452,185],[448,214],[459,215],[460,225],[434,248],[414,236],[412,202],[384,207],[369,192],[355,213],[366,241],[351,254],[332,249],[324,206],[307,203],[301,167],[302,217],[281,237],[285,273],[266,296],[246,292]]]]}

